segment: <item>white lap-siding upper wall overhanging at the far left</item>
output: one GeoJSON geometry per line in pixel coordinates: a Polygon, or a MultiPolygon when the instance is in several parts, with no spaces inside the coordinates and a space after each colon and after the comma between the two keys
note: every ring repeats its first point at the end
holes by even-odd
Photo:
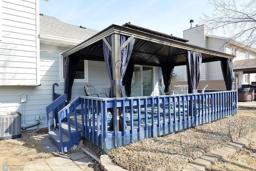
{"type": "Polygon", "coordinates": [[[39,85],[39,1],[1,4],[0,85],[39,85]]]}

